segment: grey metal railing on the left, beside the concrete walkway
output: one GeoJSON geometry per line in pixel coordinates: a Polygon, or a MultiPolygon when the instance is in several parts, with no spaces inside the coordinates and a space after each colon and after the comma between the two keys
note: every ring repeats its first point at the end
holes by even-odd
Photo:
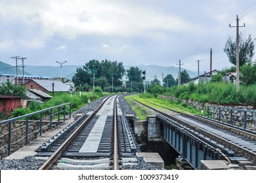
{"type": "Polygon", "coordinates": [[[71,103],[45,108],[37,112],[1,121],[0,133],[3,133],[0,134],[1,158],[3,158],[2,156],[5,154],[6,150],[8,156],[11,154],[12,146],[27,145],[29,141],[33,140],[32,135],[34,135],[34,139],[36,139],[36,137],[42,135],[44,130],[49,131],[52,129],[53,124],[56,126],[59,125],[60,122],[65,122],[66,115],[69,115],[69,118],[71,118],[71,103]]]}

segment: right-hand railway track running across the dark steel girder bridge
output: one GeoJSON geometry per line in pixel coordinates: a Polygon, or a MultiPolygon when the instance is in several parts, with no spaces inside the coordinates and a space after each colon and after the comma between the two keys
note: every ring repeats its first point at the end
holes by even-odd
{"type": "Polygon", "coordinates": [[[141,105],[144,105],[145,107],[156,110],[161,115],[166,116],[167,118],[178,122],[185,127],[188,127],[192,131],[196,131],[197,133],[208,137],[212,141],[222,144],[230,150],[233,150],[236,154],[244,156],[250,161],[256,162],[256,133],[254,131],[244,130],[236,126],[224,124],[223,122],[217,122],[215,120],[189,114],[187,112],[184,113],[173,110],[161,105],[156,105],[150,101],[143,100],[142,103],[134,98],[133,100],[137,101],[141,105]],[[154,107],[152,107],[152,105],[154,105],[154,107]],[[157,109],[159,107],[171,110],[176,114],[168,114],[167,112],[163,112],[157,109]]]}

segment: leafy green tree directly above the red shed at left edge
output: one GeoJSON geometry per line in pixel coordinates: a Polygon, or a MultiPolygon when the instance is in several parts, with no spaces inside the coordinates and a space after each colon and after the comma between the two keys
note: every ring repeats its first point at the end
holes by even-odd
{"type": "Polygon", "coordinates": [[[9,81],[3,82],[0,86],[0,94],[26,97],[26,86],[12,84],[9,81]]]}

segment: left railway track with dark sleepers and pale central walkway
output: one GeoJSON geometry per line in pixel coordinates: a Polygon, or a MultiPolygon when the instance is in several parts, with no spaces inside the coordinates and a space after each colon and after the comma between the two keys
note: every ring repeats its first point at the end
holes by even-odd
{"type": "Polygon", "coordinates": [[[37,156],[48,158],[39,169],[119,169],[125,161],[135,161],[135,137],[120,113],[118,95],[113,95],[83,114],[37,149],[37,156]]]}

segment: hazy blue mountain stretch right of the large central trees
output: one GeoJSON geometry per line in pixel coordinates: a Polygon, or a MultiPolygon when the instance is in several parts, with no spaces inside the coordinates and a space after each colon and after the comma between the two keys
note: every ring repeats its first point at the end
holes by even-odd
{"type": "MultiPolygon", "coordinates": [[[[160,65],[125,65],[125,69],[129,69],[130,67],[138,67],[142,71],[146,70],[146,80],[154,80],[154,76],[156,75],[156,78],[158,80],[162,80],[166,75],[173,75],[173,77],[176,79],[179,76],[179,67],[163,67],[160,65]]],[[[182,69],[181,71],[186,70],[190,78],[194,78],[197,76],[197,73],[194,73],[193,71],[188,71],[187,69],[182,69]]]]}

